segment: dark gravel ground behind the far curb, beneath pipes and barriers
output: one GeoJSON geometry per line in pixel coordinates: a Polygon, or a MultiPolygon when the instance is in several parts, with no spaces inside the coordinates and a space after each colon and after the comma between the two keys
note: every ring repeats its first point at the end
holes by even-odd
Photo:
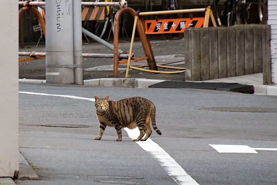
{"type": "MultiPolygon", "coordinates": [[[[163,39],[163,38],[162,38],[163,39]]],[[[84,40],[85,41],[85,40],[84,40]]],[[[83,53],[113,53],[112,50],[106,48],[105,46],[92,42],[91,43],[83,43],[83,53]]],[[[184,40],[182,39],[171,39],[171,40],[151,40],[151,47],[154,53],[154,56],[159,55],[178,55],[183,56],[184,40]]],[[[113,44],[113,42],[110,42],[113,44]]],[[[129,52],[130,48],[130,39],[126,41],[120,40],[118,44],[118,48],[129,52]]],[[[36,43],[25,43],[24,48],[19,48],[19,51],[37,51],[37,52],[45,52],[45,43],[41,42],[38,47],[36,47],[36,43]]],[[[135,42],[133,44],[132,52],[135,54],[135,57],[143,57],[145,56],[142,44],[139,38],[135,38],[135,42]]],[[[19,59],[26,58],[20,56],[19,59]]],[[[180,59],[180,57],[178,57],[180,59]]],[[[180,61],[180,60],[178,60],[180,61]]],[[[103,65],[112,65],[113,59],[112,58],[83,58],[83,69],[92,68],[96,66],[103,66],[103,65]]],[[[147,63],[143,64],[146,65],[147,63]]],[[[45,79],[45,59],[40,60],[32,60],[27,62],[20,62],[19,64],[19,78],[26,78],[26,79],[45,79]]],[[[176,67],[184,67],[183,64],[171,66],[176,67]]],[[[147,67],[148,69],[148,67],[147,67]]],[[[176,71],[172,69],[166,68],[158,68],[159,71],[176,71]]],[[[185,74],[157,74],[151,72],[142,72],[138,70],[130,70],[129,76],[131,78],[147,78],[147,79],[163,79],[163,80],[185,80],[185,74]]],[[[84,80],[87,79],[95,79],[95,78],[112,78],[113,71],[84,71],[83,78],[84,80]]],[[[125,77],[125,71],[118,71],[118,77],[125,77]]]]}

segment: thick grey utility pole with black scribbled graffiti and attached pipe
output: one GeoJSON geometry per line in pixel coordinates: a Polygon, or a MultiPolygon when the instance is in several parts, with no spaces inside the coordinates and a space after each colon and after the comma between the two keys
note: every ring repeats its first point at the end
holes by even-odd
{"type": "Polygon", "coordinates": [[[46,0],[45,9],[46,82],[83,84],[81,1],[46,0]]]}

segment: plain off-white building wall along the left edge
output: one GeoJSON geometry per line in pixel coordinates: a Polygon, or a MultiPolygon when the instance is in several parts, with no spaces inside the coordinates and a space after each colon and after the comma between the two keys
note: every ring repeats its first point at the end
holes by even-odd
{"type": "Polygon", "coordinates": [[[0,1],[0,177],[18,162],[18,1],[0,1]]]}

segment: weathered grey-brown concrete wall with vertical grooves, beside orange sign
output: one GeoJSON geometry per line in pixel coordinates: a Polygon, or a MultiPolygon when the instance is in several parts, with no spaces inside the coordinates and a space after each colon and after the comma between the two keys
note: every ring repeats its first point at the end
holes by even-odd
{"type": "Polygon", "coordinates": [[[271,82],[267,25],[185,29],[184,42],[186,80],[264,72],[264,82],[271,82]]]}

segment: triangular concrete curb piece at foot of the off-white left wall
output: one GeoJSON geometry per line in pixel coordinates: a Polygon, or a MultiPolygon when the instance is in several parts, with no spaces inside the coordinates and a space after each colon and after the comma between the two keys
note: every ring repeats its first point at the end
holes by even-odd
{"type": "Polygon", "coordinates": [[[30,166],[28,161],[19,153],[19,180],[38,180],[37,173],[30,166]]]}

